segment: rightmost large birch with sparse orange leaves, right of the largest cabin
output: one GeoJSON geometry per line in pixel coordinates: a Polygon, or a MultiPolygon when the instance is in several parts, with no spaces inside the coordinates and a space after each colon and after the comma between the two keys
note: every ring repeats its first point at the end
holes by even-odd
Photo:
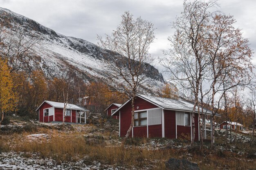
{"type": "Polygon", "coordinates": [[[218,112],[215,107],[215,95],[220,91],[223,93],[220,82],[222,80],[229,82],[228,89],[230,89],[248,85],[252,78],[252,50],[249,48],[248,40],[243,38],[241,30],[234,28],[235,22],[231,15],[216,14],[208,31],[207,51],[211,61],[209,75],[211,76],[211,110],[213,112],[211,148],[214,143],[215,115],[218,112]],[[221,80],[222,75],[226,75],[229,80],[221,80]]]}

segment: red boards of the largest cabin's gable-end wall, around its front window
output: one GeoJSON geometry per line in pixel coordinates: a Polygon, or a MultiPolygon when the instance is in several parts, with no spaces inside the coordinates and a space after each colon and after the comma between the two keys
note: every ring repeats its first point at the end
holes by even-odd
{"type": "MultiPolygon", "coordinates": [[[[148,109],[148,108],[157,108],[157,106],[155,106],[154,104],[151,104],[149,102],[147,102],[144,99],[141,99],[139,97],[137,97],[135,99],[135,110],[143,110],[143,109],[148,109]],[[139,106],[139,108],[137,109],[137,106],[139,106]]],[[[120,136],[124,137],[130,127],[131,124],[131,118],[132,118],[132,109],[131,109],[131,102],[128,102],[125,106],[123,106],[120,109],[120,113],[121,113],[121,118],[120,118],[120,136]]],[[[144,126],[144,128],[141,128],[140,130],[142,130],[142,132],[139,132],[139,134],[146,134],[147,136],[147,127],[144,126]]],[[[139,127],[135,127],[135,128],[139,128],[139,127]]],[[[130,133],[130,137],[131,137],[132,133],[130,133]]],[[[135,132],[133,129],[133,137],[137,137],[137,131],[135,132]]]]}

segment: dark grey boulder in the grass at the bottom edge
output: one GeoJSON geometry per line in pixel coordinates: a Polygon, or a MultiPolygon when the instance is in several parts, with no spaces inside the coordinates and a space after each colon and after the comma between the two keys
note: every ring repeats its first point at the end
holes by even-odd
{"type": "Polygon", "coordinates": [[[200,170],[197,163],[186,159],[171,158],[165,163],[166,170],[200,170]]]}

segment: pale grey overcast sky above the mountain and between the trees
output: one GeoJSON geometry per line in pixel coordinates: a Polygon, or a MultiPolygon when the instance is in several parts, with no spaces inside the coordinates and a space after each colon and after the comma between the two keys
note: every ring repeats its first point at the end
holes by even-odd
{"type": "MultiPolygon", "coordinates": [[[[255,51],[256,0],[219,0],[219,4],[221,11],[234,15],[235,26],[243,29],[243,36],[255,51]]],[[[141,16],[155,25],[157,39],[150,53],[161,57],[162,51],[169,48],[167,37],[173,34],[170,23],[180,15],[183,0],[0,0],[0,7],[94,44],[97,34],[110,34],[120,23],[121,14],[130,11],[136,18],[141,16]]]]}

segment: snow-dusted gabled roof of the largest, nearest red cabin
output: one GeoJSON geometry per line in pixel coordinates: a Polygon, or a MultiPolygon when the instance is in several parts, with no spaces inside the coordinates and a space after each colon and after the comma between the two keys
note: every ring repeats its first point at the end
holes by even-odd
{"type": "MultiPolygon", "coordinates": [[[[141,99],[144,99],[162,109],[180,110],[180,111],[188,111],[188,112],[193,111],[194,104],[184,99],[170,99],[170,98],[155,97],[155,96],[149,96],[149,95],[137,95],[137,97],[140,97],[141,99]]],[[[129,100],[126,103],[128,102],[129,100]]],[[[120,110],[126,103],[124,103],[121,107],[119,107],[114,113],[112,113],[112,115],[114,115],[118,110],[120,110]]],[[[195,112],[197,112],[197,110],[198,108],[196,107],[195,112]]],[[[212,112],[209,109],[204,108],[203,112],[207,115],[212,115],[212,112]]],[[[217,113],[216,116],[220,116],[220,115],[217,113]]]]}

